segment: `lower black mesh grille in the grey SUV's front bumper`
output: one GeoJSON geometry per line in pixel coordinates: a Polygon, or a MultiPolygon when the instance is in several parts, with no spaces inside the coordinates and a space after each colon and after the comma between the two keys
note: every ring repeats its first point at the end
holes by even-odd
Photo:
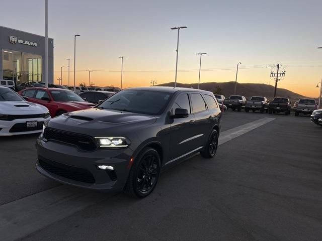
{"type": "Polygon", "coordinates": [[[38,158],[39,165],[50,173],[78,182],[95,183],[95,178],[86,169],[68,166],[44,158],[38,158]]]}

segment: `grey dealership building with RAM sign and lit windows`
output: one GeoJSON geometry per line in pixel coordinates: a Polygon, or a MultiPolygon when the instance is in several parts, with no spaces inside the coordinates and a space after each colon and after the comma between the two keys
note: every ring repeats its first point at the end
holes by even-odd
{"type": "MultiPolygon", "coordinates": [[[[48,77],[53,83],[54,40],[48,38],[48,77]]],[[[45,37],[0,26],[0,79],[45,81],[45,37]]]]}

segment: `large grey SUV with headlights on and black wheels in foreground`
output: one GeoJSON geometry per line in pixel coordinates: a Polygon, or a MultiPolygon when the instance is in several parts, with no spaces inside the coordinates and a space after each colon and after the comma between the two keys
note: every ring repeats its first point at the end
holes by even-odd
{"type": "Polygon", "coordinates": [[[36,169],[65,184],[145,197],[162,169],[198,152],[215,156],[220,120],[208,91],[121,90],[96,108],[46,122],[36,143],[36,169]]]}

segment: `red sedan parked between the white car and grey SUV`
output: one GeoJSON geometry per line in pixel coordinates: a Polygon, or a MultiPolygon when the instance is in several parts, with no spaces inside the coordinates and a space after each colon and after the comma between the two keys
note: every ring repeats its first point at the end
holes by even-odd
{"type": "Polygon", "coordinates": [[[28,97],[30,102],[46,106],[51,117],[95,106],[68,89],[34,87],[23,89],[18,93],[28,97]]]}

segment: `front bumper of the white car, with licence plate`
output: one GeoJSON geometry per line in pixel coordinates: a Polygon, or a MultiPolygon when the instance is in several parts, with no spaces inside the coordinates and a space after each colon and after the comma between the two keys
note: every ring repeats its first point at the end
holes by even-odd
{"type": "Polygon", "coordinates": [[[0,121],[0,136],[25,135],[42,132],[42,126],[49,118],[25,118],[0,121]],[[27,127],[27,122],[37,122],[37,127],[27,127]]]}

